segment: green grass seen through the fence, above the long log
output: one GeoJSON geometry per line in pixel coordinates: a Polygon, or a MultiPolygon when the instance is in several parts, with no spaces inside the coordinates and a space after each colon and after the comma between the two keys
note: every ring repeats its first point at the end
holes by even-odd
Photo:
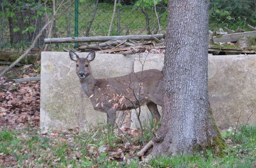
{"type": "MultiPolygon", "coordinates": [[[[139,34],[146,25],[145,17],[140,10],[134,9],[132,6],[122,6],[120,13],[120,31],[117,30],[117,13],[115,16],[115,21],[113,25],[113,31],[111,35],[125,35],[125,34],[139,34]]],[[[74,31],[74,8],[70,8],[70,10],[63,16],[61,16],[56,21],[56,27],[58,27],[58,33],[61,34],[61,37],[65,37],[68,35],[66,26],[72,25],[71,31],[74,31]],[[71,17],[69,16],[71,15],[71,17]],[[69,18],[69,19],[68,19],[69,18]]],[[[91,15],[94,10],[94,4],[92,2],[81,3],[79,5],[79,36],[85,36],[86,29],[88,26],[88,22],[91,20],[91,15]]],[[[109,24],[111,21],[111,16],[113,12],[113,5],[106,3],[99,3],[96,16],[92,23],[92,27],[90,30],[90,36],[106,36],[109,31],[109,24]]],[[[151,22],[156,18],[156,15],[151,10],[148,10],[148,15],[151,18],[151,22]]],[[[166,27],[166,19],[167,15],[162,16],[161,18],[161,26],[166,27]]],[[[150,27],[154,29],[157,26],[157,21],[155,21],[150,27]]],[[[74,33],[71,34],[73,36],[74,33]]],[[[146,34],[146,30],[142,32],[142,34],[146,34]]]]}

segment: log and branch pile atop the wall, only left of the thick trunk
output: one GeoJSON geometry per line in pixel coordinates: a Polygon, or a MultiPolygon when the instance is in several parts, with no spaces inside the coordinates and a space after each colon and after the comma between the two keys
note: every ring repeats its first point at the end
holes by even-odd
{"type": "MultiPolygon", "coordinates": [[[[133,54],[139,52],[157,52],[161,53],[161,49],[165,49],[165,35],[131,35],[131,36],[102,36],[102,37],[82,37],[80,39],[68,39],[67,41],[79,42],[101,42],[97,44],[87,44],[78,46],[77,51],[88,52],[96,50],[97,53],[119,53],[133,54]],[[108,41],[105,41],[108,40],[108,41]]],[[[62,38],[62,41],[64,41],[62,38]]],[[[53,41],[51,41],[52,43],[53,41]]],[[[54,42],[59,42],[55,39],[54,42]]],[[[64,49],[68,51],[67,49],[64,49]]]]}

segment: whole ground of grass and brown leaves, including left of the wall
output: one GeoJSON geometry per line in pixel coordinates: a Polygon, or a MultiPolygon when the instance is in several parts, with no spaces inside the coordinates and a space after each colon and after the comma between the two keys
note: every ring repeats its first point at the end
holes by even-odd
{"type": "MultiPolygon", "coordinates": [[[[40,75],[31,65],[13,68],[0,79],[0,167],[255,167],[256,125],[222,131],[228,148],[222,158],[159,157],[148,163],[136,153],[142,148],[139,130],[110,131],[104,124],[87,131],[76,129],[41,132],[40,81],[13,83],[12,78],[40,75]]],[[[153,137],[158,123],[144,129],[153,137]],[[152,131],[153,130],[153,131],[152,131]]]]}

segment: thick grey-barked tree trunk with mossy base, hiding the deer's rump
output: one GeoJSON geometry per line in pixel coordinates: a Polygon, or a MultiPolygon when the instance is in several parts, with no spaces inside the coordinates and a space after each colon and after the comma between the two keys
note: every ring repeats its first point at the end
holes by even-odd
{"type": "Polygon", "coordinates": [[[169,1],[163,116],[150,157],[206,149],[223,155],[226,144],[208,101],[208,11],[208,0],[169,1]]]}

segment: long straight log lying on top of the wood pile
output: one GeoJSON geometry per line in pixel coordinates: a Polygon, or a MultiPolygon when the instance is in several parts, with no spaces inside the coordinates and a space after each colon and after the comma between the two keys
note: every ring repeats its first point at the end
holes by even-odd
{"type": "Polygon", "coordinates": [[[75,43],[75,42],[105,42],[110,40],[153,40],[163,38],[163,34],[157,35],[129,35],[129,36],[95,36],[95,37],[65,37],[65,38],[47,38],[45,44],[50,43],[75,43]]]}

